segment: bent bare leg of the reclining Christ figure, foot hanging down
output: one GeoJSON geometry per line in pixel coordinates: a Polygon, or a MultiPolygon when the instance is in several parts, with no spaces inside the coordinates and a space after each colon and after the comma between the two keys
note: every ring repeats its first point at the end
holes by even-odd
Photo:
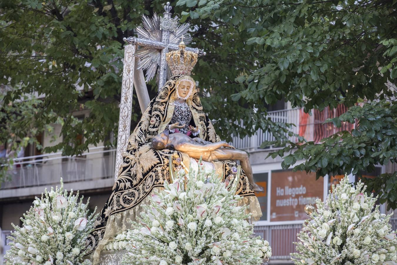
{"type": "Polygon", "coordinates": [[[241,164],[241,168],[243,168],[245,174],[247,175],[249,183],[252,186],[252,190],[254,190],[255,192],[263,191],[263,187],[259,186],[254,182],[251,163],[249,162],[249,157],[246,152],[238,149],[230,149],[230,148],[220,148],[220,150],[224,152],[224,154],[216,153],[215,155],[216,159],[218,159],[219,161],[234,160],[234,159],[239,160],[241,164]]]}

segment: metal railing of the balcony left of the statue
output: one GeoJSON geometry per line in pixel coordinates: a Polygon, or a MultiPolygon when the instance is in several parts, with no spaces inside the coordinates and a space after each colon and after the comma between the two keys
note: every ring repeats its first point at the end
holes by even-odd
{"type": "Polygon", "coordinates": [[[23,157],[8,170],[7,180],[1,189],[26,188],[112,178],[114,176],[115,149],[91,148],[89,153],[66,157],[60,153],[23,157]]]}

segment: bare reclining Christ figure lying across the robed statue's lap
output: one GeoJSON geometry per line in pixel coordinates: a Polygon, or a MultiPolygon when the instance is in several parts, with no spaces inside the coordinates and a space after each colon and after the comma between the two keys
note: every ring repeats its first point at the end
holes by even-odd
{"type": "Polygon", "coordinates": [[[241,168],[243,168],[252,186],[252,190],[255,192],[263,191],[263,188],[254,182],[251,163],[249,162],[247,153],[235,149],[235,147],[225,141],[210,143],[198,137],[192,139],[183,133],[170,134],[168,130],[165,130],[160,135],[153,137],[152,146],[156,150],[173,148],[176,151],[189,155],[191,158],[200,159],[202,157],[202,160],[207,162],[239,160],[241,168]]]}

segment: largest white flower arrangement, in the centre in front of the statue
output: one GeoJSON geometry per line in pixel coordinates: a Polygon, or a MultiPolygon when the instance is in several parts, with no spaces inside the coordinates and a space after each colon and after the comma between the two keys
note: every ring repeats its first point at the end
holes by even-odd
{"type": "Polygon", "coordinates": [[[250,214],[237,207],[237,181],[227,185],[200,168],[164,187],[128,231],[122,264],[258,265],[272,255],[267,241],[250,238],[250,214]]]}

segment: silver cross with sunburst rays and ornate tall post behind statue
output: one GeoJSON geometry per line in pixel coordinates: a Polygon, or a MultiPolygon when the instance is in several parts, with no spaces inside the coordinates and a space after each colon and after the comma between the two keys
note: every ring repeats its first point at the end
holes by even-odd
{"type": "MultiPolygon", "coordinates": [[[[177,17],[171,17],[170,2],[167,2],[164,10],[163,17],[154,14],[152,18],[149,18],[143,15],[143,26],[136,29],[138,37],[124,38],[128,44],[124,46],[115,180],[118,176],[119,166],[123,161],[121,154],[127,147],[130,135],[133,85],[135,85],[139,106],[144,112],[150,102],[146,81],[151,80],[157,74],[158,89],[162,88],[167,78],[171,76],[166,63],[166,53],[170,50],[178,50],[181,38],[186,44],[192,40],[191,37],[185,37],[189,30],[189,23],[180,25],[177,17]],[[143,70],[146,71],[146,78],[143,70]]],[[[186,47],[185,50],[195,52],[198,56],[206,54],[198,48],[186,47]]]]}

